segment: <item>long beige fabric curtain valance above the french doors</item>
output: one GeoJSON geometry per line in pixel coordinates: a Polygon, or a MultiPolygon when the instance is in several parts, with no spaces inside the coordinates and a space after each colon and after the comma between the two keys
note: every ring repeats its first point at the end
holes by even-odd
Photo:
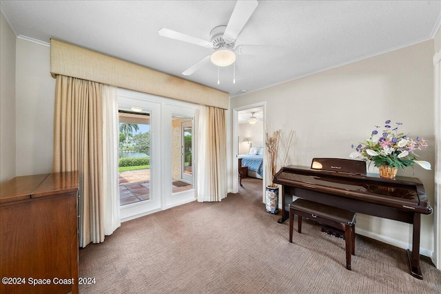
{"type": "Polygon", "coordinates": [[[52,76],[72,76],[176,100],[229,107],[229,94],[76,45],[50,40],[52,76]]]}

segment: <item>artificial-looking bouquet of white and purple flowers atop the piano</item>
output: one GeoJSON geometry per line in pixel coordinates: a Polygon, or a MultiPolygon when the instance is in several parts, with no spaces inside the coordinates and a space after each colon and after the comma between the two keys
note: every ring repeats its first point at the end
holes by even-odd
{"type": "Polygon", "coordinates": [[[373,130],[369,139],[365,143],[360,143],[357,146],[352,145],[353,151],[349,157],[362,158],[363,160],[371,160],[376,167],[411,167],[415,163],[424,169],[431,169],[429,162],[424,160],[416,160],[416,150],[421,150],[422,147],[427,147],[427,140],[416,137],[416,139],[409,138],[409,136],[398,132],[398,127],[402,123],[396,123],[396,127],[391,127],[391,120],[386,120],[382,132],[378,132],[379,126],[373,130]]]}

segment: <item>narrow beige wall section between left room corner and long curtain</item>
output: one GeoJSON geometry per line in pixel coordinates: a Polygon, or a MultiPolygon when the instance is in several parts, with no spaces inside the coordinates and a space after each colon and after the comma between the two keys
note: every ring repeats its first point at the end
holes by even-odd
{"type": "Polygon", "coordinates": [[[50,48],[17,39],[17,176],[52,171],[55,79],[50,48]]]}

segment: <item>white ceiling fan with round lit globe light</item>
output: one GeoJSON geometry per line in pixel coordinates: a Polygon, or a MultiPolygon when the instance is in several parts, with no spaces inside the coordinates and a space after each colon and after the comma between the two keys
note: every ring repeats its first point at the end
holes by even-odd
{"type": "Polygon", "coordinates": [[[176,39],[179,41],[184,41],[187,43],[192,43],[196,45],[201,45],[205,48],[212,48],[214,52],[205,56],[200,61],[194,63],[191,67],[185,70],[182,74],[184,76],[189,76],[212,61],[215,65],[220,67],[225,67],[232,65],[236,61],[236,54],[250,54],[250,55],[261,55],[261,54],[277,54],[281,53],[280,50],[274,50],[278,46],[271,45],[238,45],[236,46],[236,39],[248,19],[252,16],[258,2],[254,1],[237,1],[234,7],[232,16],[230,17],[227,25],[218,25],[216,28],[212,29],[210,32],[210,41],[199,39],[195,36],[190,36],[188,34],[183,34],[181,32],[176,32],[174,30],[169,30],[166,28],[161,28],[158,30],[160,36],[165,36],[167,38],[176,39]]]}

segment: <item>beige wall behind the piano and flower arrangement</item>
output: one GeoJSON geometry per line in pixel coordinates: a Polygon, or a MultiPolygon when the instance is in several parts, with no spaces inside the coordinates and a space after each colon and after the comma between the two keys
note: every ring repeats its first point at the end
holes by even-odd
{"type": "MultiPolygon", "coordinates": [[[[296,133],[289,164],[309,166],[313,157],[349,158],[351,144],[365,140],[384,120],[401,122],[411,136],[429,140],[420,155],[434,160],[433,46],[425,41],[336,67],[265,90],[232,98],[230,107],[266,101],[267,125],[296,133]]],[[[433,203],[433,171],[398,171],[424,182],[433,203]]],[[[358,232],[407,248],[410,225],[358,215],[358,232]]],[[[421,247],[433,251],[433,215],[422,216],[421,247]]]]}

